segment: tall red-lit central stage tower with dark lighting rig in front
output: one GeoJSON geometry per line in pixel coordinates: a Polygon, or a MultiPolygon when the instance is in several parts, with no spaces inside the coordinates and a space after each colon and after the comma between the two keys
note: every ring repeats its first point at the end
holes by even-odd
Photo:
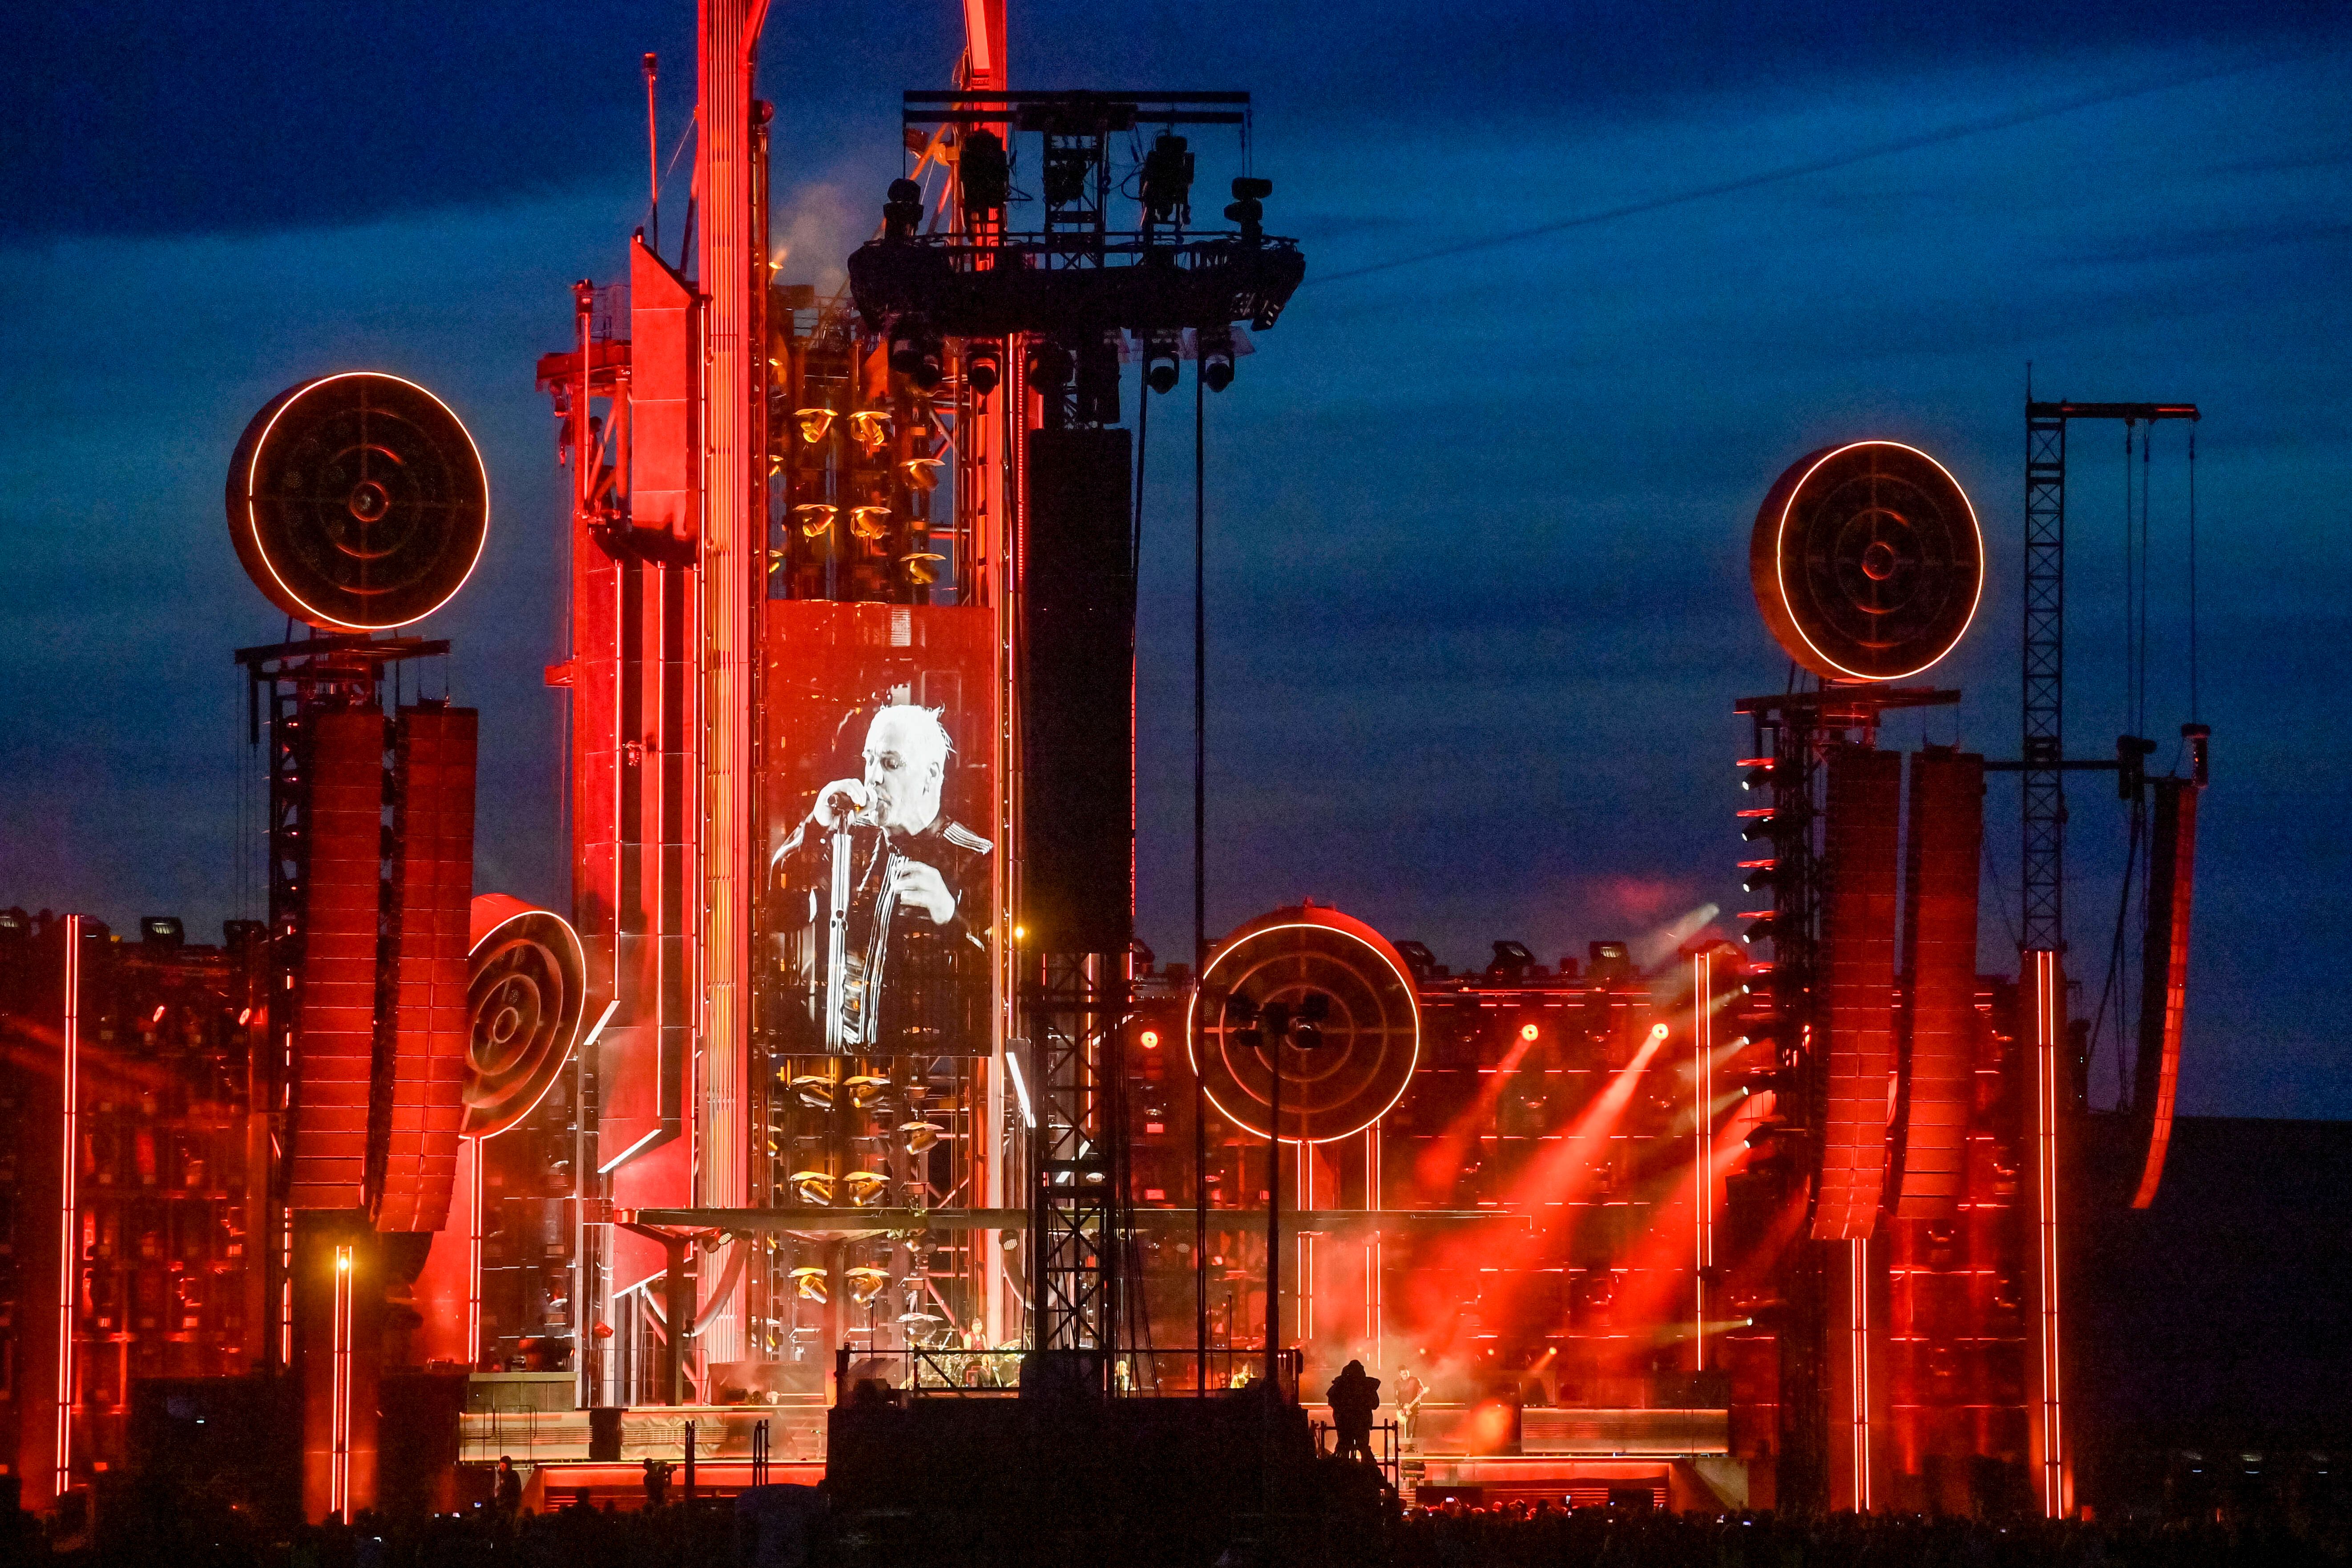
{"type": "Polygon", "coordinates": [[[691,263],[637,235],[626,306],[583,282],[539,364],[604,1018],[572,1098],[576,1338],[541,1338],[576,1349],[583,1406],[816,1396],[842,1342],[1035,1340],[1101,1387],[1134,837],[1120,360],[1148,348],[1164,390],[1207,353],[1221,388],[1232,324],[1270,327],[1303,263],[1263,235],[1265,181],[1237,186],[1237,233],[1190,228],[1181,132],[1242,127],[1244,94],[1009,94],[1002,7],[974,7],[962,87],[908,94],[910,179],[854,296],[771,282],[757,21],[703,14],[691,263]],[[1152,127],[1122,233],[1112,155],[1152,127]]]}

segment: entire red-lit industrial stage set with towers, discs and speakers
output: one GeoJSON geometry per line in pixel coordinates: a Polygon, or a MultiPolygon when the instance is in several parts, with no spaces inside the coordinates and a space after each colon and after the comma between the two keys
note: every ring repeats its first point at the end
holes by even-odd
{"type": "Polygon", "coordinates": [[[513,1455],[539,1500],[623,1505],[647,1458],[703,1490],[830,1465],[880,1516],[1176,1450],[1263,1497],[1359,1359],[1423,1502],[2070,1512],[2070,1222],[2164,1175],[2206,731],[2180,778],[2063,743],[2067,437],[2197,409],[2027,402],[2023,733],[1990,762],[1879,745],[1959,696],[1922,684],[1985,585],[1959,484],[1884,440],[1780,475],[1752,578],[1795,665],[1700,825],[1755,910],[1449,971],[1301,903],[1160,964],[1150,404],[1247,395],[1305,259],[1247,94],[1011,92],[1002,0],[967,9],[821,296],[769,268],[764,5],[703,0],[687,244],[656,188],[536,367],[569,910],[473,893],[499,736],[407,630],[489,529],[466,428],[362,371],[252,421],[230,534],[306,628],[235,654],[268,919],[0,914],[26,1505],[169,1462],[348,1519],[513,1455]],[[2082,771],[2145,907],[2098,1009],[2082,771]],[[2011,799],[2006,978],[1978,889],[2011,799]],[[2133,1081],[2093,1117],[2103,1037],[2133,1081]]]}

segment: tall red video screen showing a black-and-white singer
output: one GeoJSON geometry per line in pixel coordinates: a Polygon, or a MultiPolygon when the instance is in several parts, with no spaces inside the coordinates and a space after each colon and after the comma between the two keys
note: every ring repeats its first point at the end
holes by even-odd
{"type": "Polygon", "coordinates": [[[771,599],[760,1030],[793,1056],[985,1056],[988,609],[771,599]]]}

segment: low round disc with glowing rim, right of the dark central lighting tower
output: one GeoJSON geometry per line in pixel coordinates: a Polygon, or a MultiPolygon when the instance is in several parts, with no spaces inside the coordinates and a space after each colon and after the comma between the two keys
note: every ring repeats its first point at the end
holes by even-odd
{"type": "Polygon", "coordinates": [[[1421,1004],[1411,971],[1388,940],[1338,910],[1303,905],[1249,922],[1225,938],[1185,1013],[1192,1072],[1235,1126],[1265,1138],[1272,1077],[1265,1051],[1240,1039],[1230,999],[1296,1011],[1329,997],[1324,1044],[1282,1048],[1282,1138],[1331,1143],[1388,1114],[1421,1060],[1421,1004]]]}

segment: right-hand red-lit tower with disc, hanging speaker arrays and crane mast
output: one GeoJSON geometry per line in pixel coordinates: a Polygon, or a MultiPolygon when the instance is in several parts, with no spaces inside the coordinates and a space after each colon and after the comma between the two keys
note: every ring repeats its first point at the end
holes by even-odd
{"type": "MultiPolygon", "coordinates": [[[[2147,780],[2154,748],[2129,733],[2112,762],[2060,752],[2067,418],[2129,428],[2194,409],[2030,404],[2025,757],[1985,762],[1931,745],[1907,759],[1907,809],[1905,759],[1877,750],[1877,731],[1886,712],[1959,696],[1898,682],[1957,644],[1983,592],[1983,536],[1966,496],[1910,447],[1856,442],[1795,463],[1757,515],[1759,609],[1816,677],[1738,705],[1757,736],[1740,783],[1766,795],[1740,813],[1743,837],[1771,851],[1743,863],[1745,886],[1771,893],[1769,910],[1743,919],[1748,940],[1773,945],[1778,1072],[1771,1117],[1752,1140],[1764,1154],[1733,1185],[1726,1229],[1799,1234],[1776,1262],[1778,1309],[1726,1349],[1733,1425],[1757,1425],[1740,1420],[1743,1408],[1773,1410],[1776,1436],[1759,1458],[1771,1460],[1783,1507],[2072,1512],[2067,1213],[2145,1204],[2161,1178],[2209,731],[2183,726],[2190,778],[2147,780]],[[2065,999],[2060,780],[2084,769],[2117,773],[2131,804],[2129,856],[2147,877],[2136,1093],[2122,1107],[2122,1140],[2084,1135],[2093,1025],[2070,1025],[2065,999]],[[2016,980],[1976,973],[1987,771],[2025,776],[2016,980]]],[[[2126,567],[2133,726],[2145,719],[2150,661],[2145,494],[2143,482],[2138,576],[2126,567]]],[[[2119,1016],[2122,959],[2119,924],[2110,976],[2119,1016]]]]}

